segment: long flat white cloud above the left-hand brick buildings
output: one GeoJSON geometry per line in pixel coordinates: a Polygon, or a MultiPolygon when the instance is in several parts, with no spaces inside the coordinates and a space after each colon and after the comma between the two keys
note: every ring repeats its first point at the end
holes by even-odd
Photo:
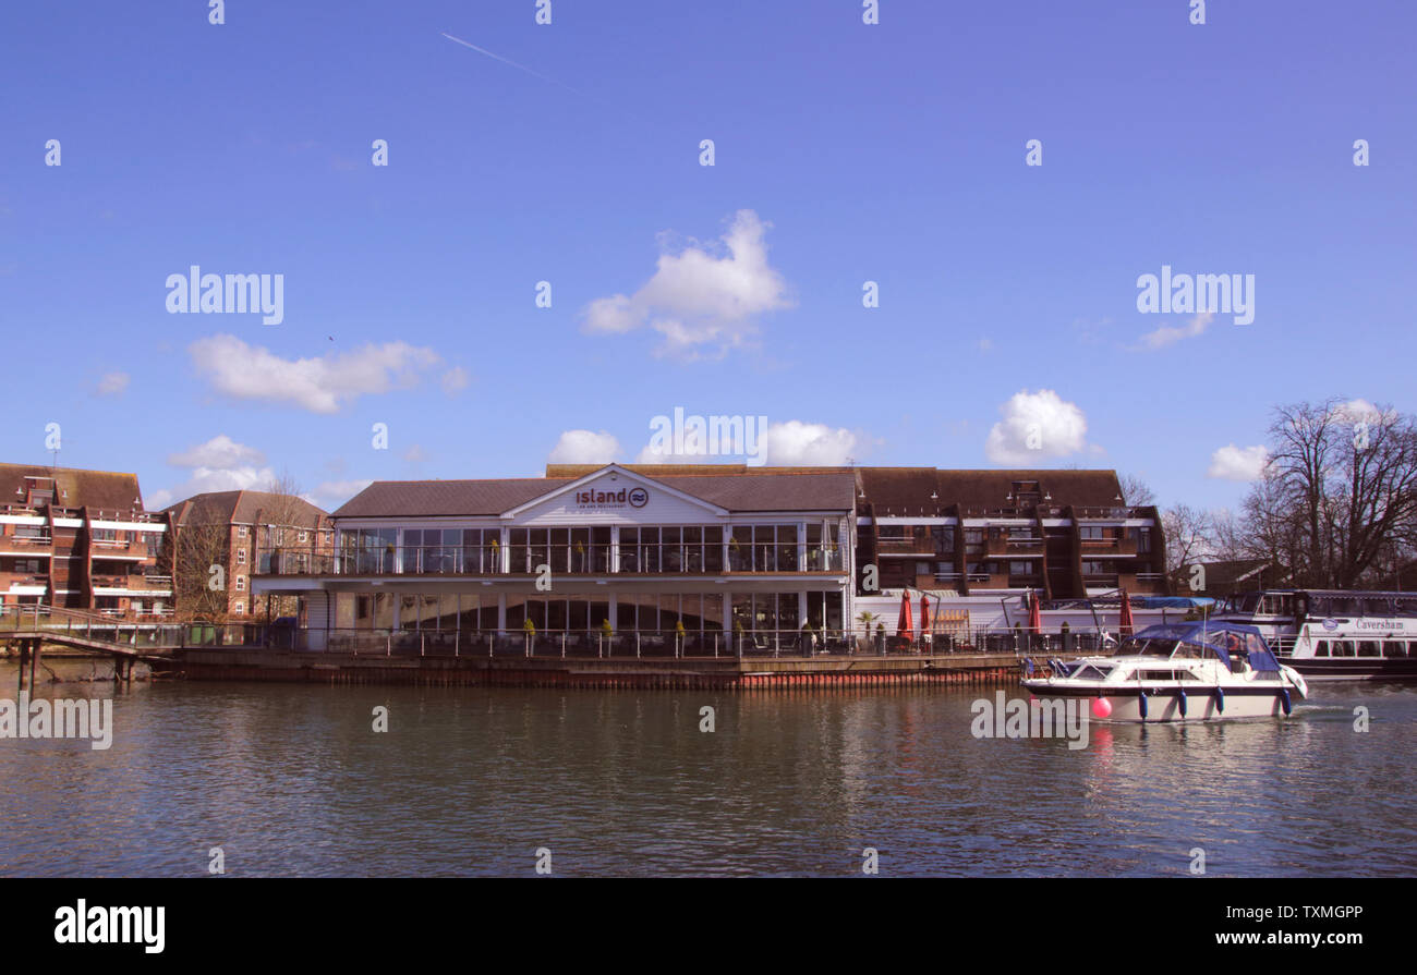
{"type": "Polygon", "coordinates": [[[339,412],[361,395],[417,385],[421,373],[439,361],[434,350],[402,342],[310,359],[281,359],[230,334],[198,339],[188,351],[197,373],[218,393],[322,414],[339,412]]]}

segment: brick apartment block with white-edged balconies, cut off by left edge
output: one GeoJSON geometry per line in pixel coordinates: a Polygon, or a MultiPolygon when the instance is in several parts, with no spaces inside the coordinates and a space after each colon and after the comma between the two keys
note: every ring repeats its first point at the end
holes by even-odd
{"type": "Polygon", "coordinates": [[[133,473],[0,463],[0,605],[170,615],[169,526],[142,497],[133,473]]]}

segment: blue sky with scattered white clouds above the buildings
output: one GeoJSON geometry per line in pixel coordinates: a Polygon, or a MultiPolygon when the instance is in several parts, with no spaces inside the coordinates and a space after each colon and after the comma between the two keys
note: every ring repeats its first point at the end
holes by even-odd
{"type": "Polygon", "coordinates": [[[58,422],[149,505],[334,506],[633,461],[683,407],[765,415],[769,462],[1234,505],[1275,404],[1413,410],[1417,11],[1189,6],[6,4],[0,459],[58,422]],[[283,275],[283,322],[169,313],[191,265],[283,275]],[[1254,322],[1138,312],[1162,265],[1254,275],[1254,322]]]}

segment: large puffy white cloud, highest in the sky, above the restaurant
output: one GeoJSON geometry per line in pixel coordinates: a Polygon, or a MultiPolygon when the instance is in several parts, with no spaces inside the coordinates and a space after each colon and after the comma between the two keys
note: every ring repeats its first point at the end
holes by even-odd
{"type": "Polygon", "coordinates": [[[677,359],[699,359],[704,349],[721,356],[747,344],[755,316],[792,306],[782,275],[768,265],[762,238],[769,225],[740,210],[718,255],[696,242],[680,254],[662,252],[655,275],[633,295],[592,300],[584,329],[625,333],[649,325],[665,337],[656,354],[677,359]]]}

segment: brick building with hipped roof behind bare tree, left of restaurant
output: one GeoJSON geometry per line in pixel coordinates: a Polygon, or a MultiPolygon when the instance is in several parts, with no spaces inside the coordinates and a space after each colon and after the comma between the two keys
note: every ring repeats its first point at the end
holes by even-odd
{"type": "Polygon", "coordinates": [[[275,598],[251,592],[252,573],[269,573],[272,563],[295,571],[316,556],[334,551],[329,514],[302,497],[262,490],[220,490],[194,495],[164,510],[173,526],[163,564],[177,580],[177,609],[184,616],[232,622],[293,615],[275,598]],[[213,565],[221,573],[214,575],[213,565]],[[220,588],[213,588],[213,581],[220,588]]]}

